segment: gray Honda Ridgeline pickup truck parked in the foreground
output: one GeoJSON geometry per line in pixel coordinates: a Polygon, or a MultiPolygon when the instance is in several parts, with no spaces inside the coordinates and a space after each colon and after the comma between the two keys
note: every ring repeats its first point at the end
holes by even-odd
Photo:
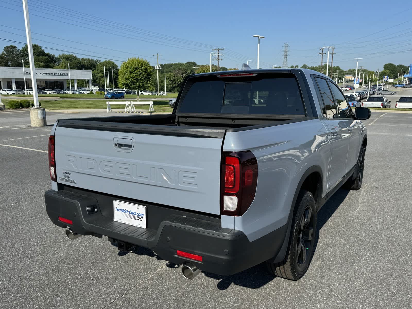
{"type": "Polygon", "coordinates": [[[362,185],[369,117],[312,70],[190,75],[171,114],[57,121],[47,213],[69,239],[150,248],[187,279],[266,262],[297,280],[317,212],[362,185]]]}

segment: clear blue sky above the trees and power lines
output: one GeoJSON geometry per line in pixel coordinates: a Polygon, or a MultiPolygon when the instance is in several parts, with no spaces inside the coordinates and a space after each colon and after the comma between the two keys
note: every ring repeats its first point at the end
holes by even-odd
{"type": "MultiPolygon", "coordinates": [[[[359,66],[370,70],[388,62],[412,63],[412,3],[365,2],[353,7],[341,1],[28,0],[28,5],[33,43],[117,64],[131,56],[155,64],[156,53],[162,55],[159,63],[208,64],[211,49],[224,47],[222,66],[252,60],[255,67],[255,34],[266,37],[260,44],[262,68],[282,65],[285,42],[288,66],[320,64],[322,46],[336,47],[333,63],[345,70],[356,67],[357,57],[363,58],[359,66]]],[[[0,38],[26,42],[21,0],[2,0],[0,16],[0,38]]],[[[0,50],[9,44],[22,46],[0,40],[0,50]]]]}

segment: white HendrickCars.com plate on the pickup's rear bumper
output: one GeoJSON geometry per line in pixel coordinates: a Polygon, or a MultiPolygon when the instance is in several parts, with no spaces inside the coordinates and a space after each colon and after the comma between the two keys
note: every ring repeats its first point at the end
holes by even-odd
{"type": "Polygon", "coordinates": [[[113,201],[113,220],[146,228],[146,206],[113,201]]]}

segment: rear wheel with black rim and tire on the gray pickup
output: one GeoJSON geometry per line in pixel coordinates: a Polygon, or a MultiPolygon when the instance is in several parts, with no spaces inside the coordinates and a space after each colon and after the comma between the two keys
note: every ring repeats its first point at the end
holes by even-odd
{"type": "Polygon", "coordinates": [[[316,204],[311,192],[301,190],[296,200],[290,231],[289,249],[280,263],[267,262],[271,274],[288,280],[298,280],[309,268],[316,236],[316,204]]]}

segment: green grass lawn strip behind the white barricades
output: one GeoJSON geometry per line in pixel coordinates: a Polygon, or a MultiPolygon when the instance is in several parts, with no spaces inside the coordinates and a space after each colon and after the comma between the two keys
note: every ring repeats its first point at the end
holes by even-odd
{"type": "MultiPolygon", "coordinates": [[[[6,108],[9,108],[8,102],[10,100],[4,99],[2,103],[5,104],[6,108]]],[[[39,100],[43,108],[48,110],[73,110],[73,109],[96,109],[96,108],[107,108],[107,100],[58,100],[58,101],[42,101],[39,100]]],[[[117,100],[113,100],[116,102],[117,100]]],[[[125,105],[111,105],[113,109],[123,108],[125,105]]],[[[139,110],[149,110],[149,105],[136,105],[136,109],[139,110]]],[[[155,112],[171,112],[172,108],[169,106],[169,101],[153,101],[153,108],[155,112]]]]}

